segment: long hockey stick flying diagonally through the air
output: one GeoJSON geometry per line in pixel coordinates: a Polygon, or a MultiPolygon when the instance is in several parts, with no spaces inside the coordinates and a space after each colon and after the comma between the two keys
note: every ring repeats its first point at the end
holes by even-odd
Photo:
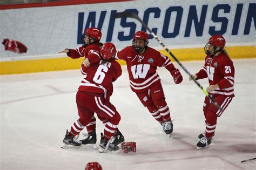
{"type": "Polygon", "coordinates": [[[220,111],[222,111],[222,108],[218,105],[218,103],[210,96],[210,94],[207,92],[207,90],[204,89],[203,86],[201,86],[199,84],[199,82],[193,78],[192,74],[183,66],[183,64],[180,63],[180,61],[173,55],[173,53],[163,44],[163,42],[161,42],[161,40],[156,36],[156,34],[142,21],[142,19],[140,19],[138,17],[138,15],[136,13],[132,13],[132,12],[117,12],[114,14],[114,18],[134,18],[137,19],[142,26],[144,26],[144,28],[147,29],[147,31],[149,31],[151,33],[151,35],[157,39],[158,43],[164,47],[165,51],[167,51],[169,53],[169,55],[172,56],[172,58],[179,64],[179,66],[188,74],[188,76],[194,81],[194,83],[196,83],[198,85],[198,87],[200,87],[200,89],[205,93],[205,95],[212,101],[212,103],[219,108],[220,111]]]}

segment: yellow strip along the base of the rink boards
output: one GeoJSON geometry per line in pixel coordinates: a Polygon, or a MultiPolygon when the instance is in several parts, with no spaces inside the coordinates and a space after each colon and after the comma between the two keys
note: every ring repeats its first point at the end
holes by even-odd
{"type": "MultiPolygon", "coordinates": [[[[232,46],[226,47],[231,58],[255,58],[255,46],[232,46]]],[[[165,50],[159,50],[164,55],[168,55],[165,50]]],[[[203,47],[193,49],[173,49],[171,52],[181,61],[204,60],[205,53],[203,47]]],[[[170,57],[170,56],[169,56],[170,57]]],[[[171,57],[170,57],[171,58],[171,57]]],[[[172,61],[174,59],[171,58],[172,61]]],[[[69,57],[48,58],[48,59],[28,59],[28,60],[11,60],[0,62],[0,74],[19,74],[31,72],[60,71],[80,69],[83,58],[71,59],[69,57]]],[[[124,60],[118,61],[125,65],[124,60]]]]}

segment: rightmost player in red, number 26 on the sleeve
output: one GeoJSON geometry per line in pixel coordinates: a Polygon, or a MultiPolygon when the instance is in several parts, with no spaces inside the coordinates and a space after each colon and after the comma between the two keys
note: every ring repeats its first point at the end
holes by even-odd
{"type": "Polygon", "coordinates": [[[208,97],[205,97],[203,111],[206,127],[205,132],[198,136],[197,149],[207,148],[211,144],[217,118],[220,117],[234,97],[235,70],[232,60],[224,49],[225,43],[223,36],[212,36],[204,47],[207,55],[205,65],[203,69],[193,75],[193,78],[197,80],[208,77],[210,85],[207,87],[207,91],[222,108],[222,111],[219,110],[208,97]]]}

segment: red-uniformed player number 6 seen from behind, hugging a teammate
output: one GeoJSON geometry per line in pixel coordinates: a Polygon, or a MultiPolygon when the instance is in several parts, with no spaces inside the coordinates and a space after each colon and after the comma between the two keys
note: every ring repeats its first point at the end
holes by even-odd
{"type": "Polygon", "coordinates": [[[73,123],[70,132],[66,131],[62,148],[79,148],[82,141],[77,140],[77,135],[83,128],[91,123],[94,113],[105,118],[104,135],[101,133],[100,150],[106,149],[116,151],[117,146],[124,141],[122,133],[117,128],[120,121],[120,114],[117,112],[107,96],[107,91],[111,90],[112,82],[121,74],[121,66],[114,60],[116,47],[112,43],[105,43],[100,49],[99,63],[90,64],[86,67],[84,63],[81,70],[86,73],[86,77],[80,83],[76,95],[79,119],[73,123]]]}

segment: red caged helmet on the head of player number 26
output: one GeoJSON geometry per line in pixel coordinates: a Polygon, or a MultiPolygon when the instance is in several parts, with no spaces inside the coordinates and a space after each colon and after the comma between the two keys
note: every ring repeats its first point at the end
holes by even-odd
{"type": "Polygon", "coordinates": [[[215,53],[220,52],[226,44],[226,40],[221,35],[212,36],[208,43],[206,43],[204,50],[206,55],[214,56],[215,53]]]}

